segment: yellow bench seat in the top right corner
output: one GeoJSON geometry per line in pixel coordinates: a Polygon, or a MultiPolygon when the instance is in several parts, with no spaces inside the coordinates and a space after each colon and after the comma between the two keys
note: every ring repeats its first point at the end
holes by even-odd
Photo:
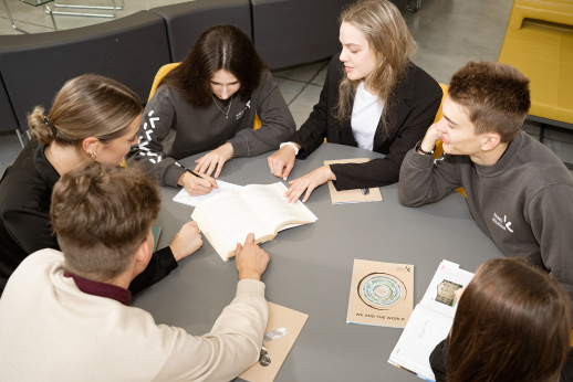
{"type": "Polygon", "coordinates": [[[514,0],[498,61],[531,79],[531,116],[573,124],[573,1],[514,0]]]}

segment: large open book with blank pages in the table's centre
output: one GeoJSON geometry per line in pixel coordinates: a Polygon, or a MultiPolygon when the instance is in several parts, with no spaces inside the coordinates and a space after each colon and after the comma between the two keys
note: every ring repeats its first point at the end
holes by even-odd
{"type": "Polygon", "coordinates": [[[283,197],[286,190],[278,182],[221,192],[199,203],[191,219],[219,256],[228,261],[235,256],[237,243],[243,244],[251,232],[259,244],[273,240],[280,231],[317,220],[301,201],[288,203],[283,197]]]}

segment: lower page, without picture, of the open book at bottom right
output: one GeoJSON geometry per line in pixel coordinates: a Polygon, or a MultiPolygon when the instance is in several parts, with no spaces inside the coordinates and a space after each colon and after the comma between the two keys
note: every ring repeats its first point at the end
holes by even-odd
{"type": "Polygon", "coordinates": [[[435,380],[429,356],[448,337],[452,319],[417,305],[390,353],[389,361],[435,380]]]}

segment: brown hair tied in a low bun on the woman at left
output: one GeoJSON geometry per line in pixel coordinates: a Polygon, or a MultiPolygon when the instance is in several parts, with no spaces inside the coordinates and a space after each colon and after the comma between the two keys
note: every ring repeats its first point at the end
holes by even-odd
{"type": "Polygon", "coordinates": [[[72,78],[58,92],[44,121],[44,108],[34,107],[28,116],[32,135],[43,145],[53,141],[75,146],[95,137],[103,144],[124,136],[143,112],[139,97],[126,86],[96,74],[72,78]]]}

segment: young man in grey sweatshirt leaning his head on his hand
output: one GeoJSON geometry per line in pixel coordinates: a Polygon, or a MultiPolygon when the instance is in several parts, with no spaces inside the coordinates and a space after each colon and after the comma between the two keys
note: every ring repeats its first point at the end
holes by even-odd
{"type": "Polygon", "coordinates": [[[463,187],[473,220],[501,252],[551,273],[573,299],[573,177],[520,130],[530,106],[529,78],[514,67],[462,66],[444,118],[404,159],[399,202],[420,206],[463,187]],[[444,155],[434,160],[438,139],[444,155]]]}

